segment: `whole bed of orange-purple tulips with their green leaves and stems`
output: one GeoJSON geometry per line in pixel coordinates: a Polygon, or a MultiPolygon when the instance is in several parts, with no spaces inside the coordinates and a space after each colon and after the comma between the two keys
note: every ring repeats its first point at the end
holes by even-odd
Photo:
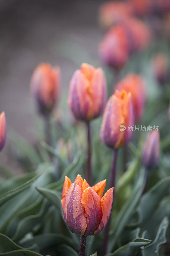
{"type": "Polygon", "coordinates": [[[95,58],[60,51],[69,84],[57,58],[32,70],[36,139],[0,109],[21,172],[0,163],[0,256],[170,256],[170,1],[96,13],[95,58]]]}

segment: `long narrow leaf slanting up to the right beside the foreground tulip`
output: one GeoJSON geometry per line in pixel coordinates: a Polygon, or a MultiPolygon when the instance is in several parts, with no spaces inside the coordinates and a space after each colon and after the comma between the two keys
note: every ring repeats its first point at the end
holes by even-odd
{"type": "Polygon", "coordinates": [[[114,239],[112,239],[112,242],[109,246],[109,252],[112,251],[112,249],[114,248],[117,236],[119,236],[121,234],[124,227],[127,225],[128,221],[134,211],[134,208],[136,207],[138,200],[142,194],[143,187],[144,187],[144,170],[141,169],[141,171],[139,173],[139,178],[138,178],[137,184],[136,184],[134,190],[132,191],[131,196],[123,204],[121,211],[119,212],[119,214],[114,222],[114,225],[112,226],[112,229],[110,230],[110,235],[112,235],[114,237],[114,239]]]}

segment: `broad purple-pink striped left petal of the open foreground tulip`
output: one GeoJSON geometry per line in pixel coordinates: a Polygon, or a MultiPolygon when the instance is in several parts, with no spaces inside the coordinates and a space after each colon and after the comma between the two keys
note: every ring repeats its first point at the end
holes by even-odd
{"type": "Polygon", "coordinates": [[[63,202],[65,222],[71,232],[84,235],[87,219],[84,216],[84,207],[81,204],[82,189],[74,182],[68,189],[63,202]]]}

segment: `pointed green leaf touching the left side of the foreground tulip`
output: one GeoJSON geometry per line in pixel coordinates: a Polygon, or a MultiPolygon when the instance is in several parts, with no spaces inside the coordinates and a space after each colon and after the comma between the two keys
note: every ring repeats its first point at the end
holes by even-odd
{"type": "Polygon", "coordinates": [[[61,211],[61,195],[57,191],[53,191],[47,188],[36,188],[41,195],[46,197],[55,207],[61,211]]]}

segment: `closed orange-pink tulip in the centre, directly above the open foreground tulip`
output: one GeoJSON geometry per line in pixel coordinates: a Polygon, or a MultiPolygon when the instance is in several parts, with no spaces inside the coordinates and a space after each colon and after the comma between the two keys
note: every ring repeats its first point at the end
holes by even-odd
{"type": "Polygon", "coordinates": [[[72,113],[77,119],[90,121],[103,113],[106,98],[104,71],[83,63],[70,81],[68,105],[72,113]]]}

